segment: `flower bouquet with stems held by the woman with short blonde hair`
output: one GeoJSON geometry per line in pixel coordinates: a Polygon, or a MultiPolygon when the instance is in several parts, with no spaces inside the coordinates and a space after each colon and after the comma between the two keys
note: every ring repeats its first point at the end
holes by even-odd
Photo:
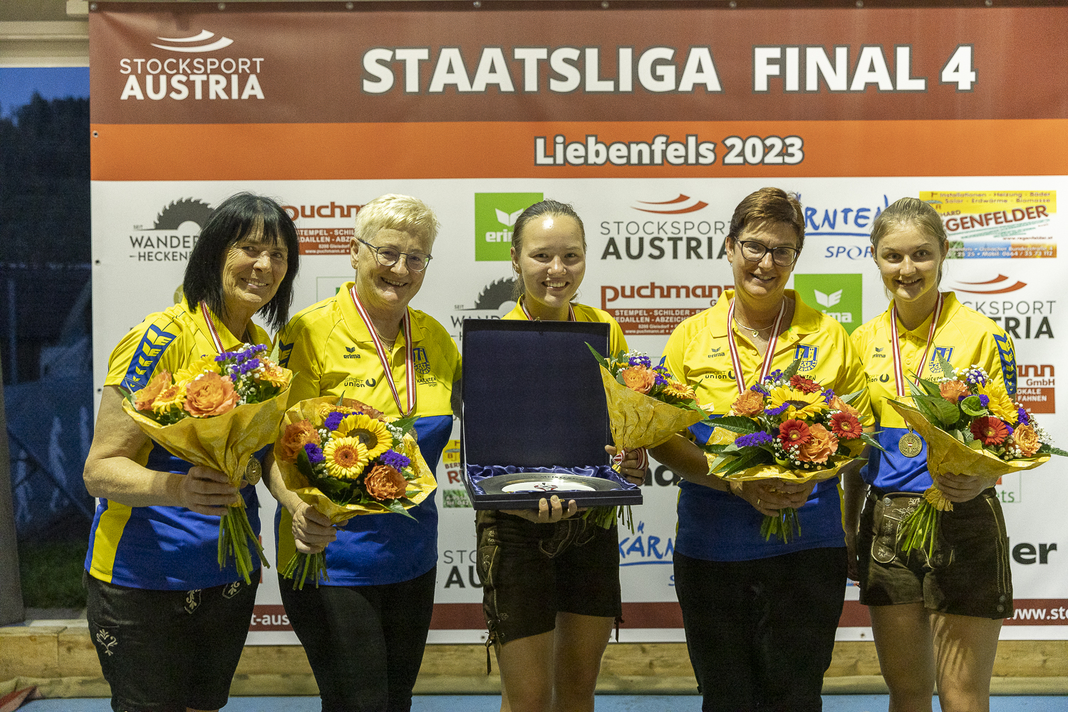
{"type": "MultiPolygon", "coordinates": [[[[335,525],[358,515],[411,517],[406,510],[438,486],[412,437],[415,421],[351,398],[301,400],[285,412],[274,443],[282,481],[335,525]]],[[[295,589],[309,574],[316,586],[330,580],[325,551],[297,552],[282,570],[295,589]]]]}

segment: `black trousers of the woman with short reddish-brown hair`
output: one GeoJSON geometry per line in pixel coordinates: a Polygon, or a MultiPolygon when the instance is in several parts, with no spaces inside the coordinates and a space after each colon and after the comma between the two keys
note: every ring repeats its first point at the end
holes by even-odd
{"type": "Polygon", "coordinates": [[[703,712],[818,712],[846,592],[846,549],[749,561],[675,552],[703,712]]]}

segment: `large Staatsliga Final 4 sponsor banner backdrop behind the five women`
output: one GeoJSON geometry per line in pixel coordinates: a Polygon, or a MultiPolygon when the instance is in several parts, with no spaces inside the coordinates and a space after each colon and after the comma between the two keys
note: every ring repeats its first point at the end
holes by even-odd
{"type": "MultiPolygon", "coordinates": [[[[1050,81],[1068,58],[1068,11],[484,4],[96,4],[98,393],[113,345],[173,302],[200,225],[239,190],[278,197],[296,220],[294,312],[351,279],[361,205],[387,192],[425,200],[442,231],[412,305],[457,339],[462,319],[514,305],[519,211],[572,203],[588,244],[580,300],[659,353],[731,287],[734,206],[774,185],[805,210],[791,286],[850,331],[888,304],[871,221],[900,196],[930,201],[952,240],[943,288],[1008,331],[1020,400],[1068,443],[1055,398],[1068,366],[1055,342],[1068,328],[1057,257],[1068,88],[1050,81]]],[[[437,643],[485,638],[456,445],[437,464],[437,643]]],[[[1017,606],[1003,637],[1068,637],[1066,472],[1055,458],[999,486],[1017,606]]],[[[684,639],[677,481],[654,463],[635,531],[621,531],[624,640],[684,639]]],[[[269,527],[264,545],[273,551],[269,527]]],[[[274,571],[260,591],[250,642],[296,643],[274,571]]],[[[839,638],[868,638],[869,626],[847,587],[839,638]]]]}

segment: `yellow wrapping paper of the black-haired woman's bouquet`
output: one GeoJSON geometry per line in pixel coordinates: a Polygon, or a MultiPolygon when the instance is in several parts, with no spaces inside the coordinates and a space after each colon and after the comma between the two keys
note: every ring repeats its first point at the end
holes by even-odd
{"type": "MultiPolygon", "coordinates": [[[[270,400],[238,406],[214,417],[186,417],[173,425],[160,425],[142,415],[129,400],[123,400],[123,410],[167,452],[225,473],[234,487],[240,487],[249,458],[273,442],[288,397],[286,387],[270,400]]],[[[245,506],[244,500],[238,499],[238,503],[245,506]]]]}

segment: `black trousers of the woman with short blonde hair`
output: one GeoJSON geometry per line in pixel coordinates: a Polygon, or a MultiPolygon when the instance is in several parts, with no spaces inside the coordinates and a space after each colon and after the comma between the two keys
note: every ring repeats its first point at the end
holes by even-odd
{"type": "Polygon", "coordinates": [[[437,567],[381,586],[310,583],[282,603],[304,646],[323,712],[408,712],[434,613],[437,567]]]}

